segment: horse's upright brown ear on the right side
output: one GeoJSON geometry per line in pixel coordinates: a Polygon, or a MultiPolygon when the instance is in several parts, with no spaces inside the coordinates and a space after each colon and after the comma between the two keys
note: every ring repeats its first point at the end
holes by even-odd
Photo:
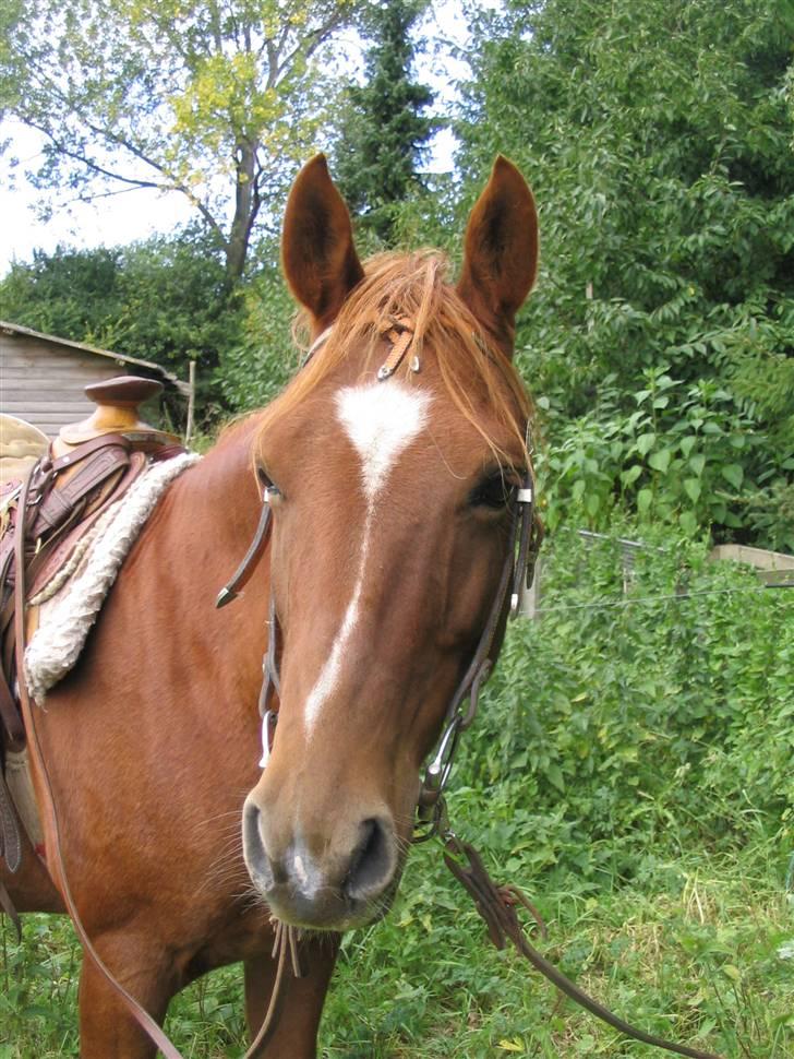
{"type": "Polygon", "coordinates": [[[527,181],[498,155],[466,228],[458,294],[507,356],[538,273],[538,214],[527,181]]]}

